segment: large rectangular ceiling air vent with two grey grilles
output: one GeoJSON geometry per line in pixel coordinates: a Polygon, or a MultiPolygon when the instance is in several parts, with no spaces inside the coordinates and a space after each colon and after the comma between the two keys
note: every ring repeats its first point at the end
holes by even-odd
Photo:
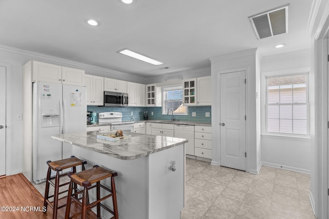
{"type": "Polygon", "coordinates": [[[258,39],[288,33],[289,5],[249,17],[258,39]]]}

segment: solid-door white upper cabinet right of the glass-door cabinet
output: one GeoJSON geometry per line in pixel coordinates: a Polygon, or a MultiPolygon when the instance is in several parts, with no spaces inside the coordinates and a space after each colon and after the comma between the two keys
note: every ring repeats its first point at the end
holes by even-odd
{"type": "Polygon", "coordinates": [[[197,78],[197,105],[211,106],[211,76],[197,78]]]}

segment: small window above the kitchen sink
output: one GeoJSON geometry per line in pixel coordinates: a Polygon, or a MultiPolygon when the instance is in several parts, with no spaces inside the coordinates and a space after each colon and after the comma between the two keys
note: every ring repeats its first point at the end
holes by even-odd
{"type": "Polygon", "coordinates": [[[183,106],[182,86],[162,87],[162,114],[168,114],[173,109],[174,115],[187,115],[187,107],[183,106]]]}

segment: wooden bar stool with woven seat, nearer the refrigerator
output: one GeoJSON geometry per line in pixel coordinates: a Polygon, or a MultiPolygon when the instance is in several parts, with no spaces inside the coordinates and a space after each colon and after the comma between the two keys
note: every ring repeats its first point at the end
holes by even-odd
{"type": "MultiPolygon", "coordinates": [[[[66,206],[66,203],[62,206],[58,206],[58,196],[60,194],[63,194],[68,191],[62,191],[59,192],[59,188],[65,185],[68,185],[69,182],[60,184],[60,177],[66,176],[67,173],[60,174],[60,171],[65,170],[67,168],[72,168],[73,172],[77,172],[76,167],[79,165],[82,165],[82,170],[85,170],[84,165],[87,164],[86,161],[82,161],[79,158],[75,156],[71,156],[70,158],[66,158],[59,161],[47,161],[48,164],[48,172],[47,172],[47,179],[46,179],[46,190],[45,190],[45,198],[44,198],[44,204],[43,206],[46,207],[47,212],[47,206],[50,205],[52,207],[52,218],[57,218],[57,209],[63,208],[66,206]],[[51,177],[51,170],[56,171],[56,176],[51,177]],[[55,179],[55,183],[52,183],[51,180],[55,179]],[[52,185],[54,187],[54,194],[49,196],[49,185],[52,185]],[[49,201],[49,198],[53,197],[53,203],[49,201]]],[[[77,185],[74,185],[75,191],[77,191],[77,185]]],[[[66,196],[65,196],[66,197],[66,196]]]]}

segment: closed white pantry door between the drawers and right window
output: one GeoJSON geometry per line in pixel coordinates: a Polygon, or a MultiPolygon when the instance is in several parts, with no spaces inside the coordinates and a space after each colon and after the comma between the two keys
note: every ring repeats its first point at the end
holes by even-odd
{"type": "Polygon", "coordinates": [[[246,73],[221,74],[221,166],[246,170],[246,73]]]}

